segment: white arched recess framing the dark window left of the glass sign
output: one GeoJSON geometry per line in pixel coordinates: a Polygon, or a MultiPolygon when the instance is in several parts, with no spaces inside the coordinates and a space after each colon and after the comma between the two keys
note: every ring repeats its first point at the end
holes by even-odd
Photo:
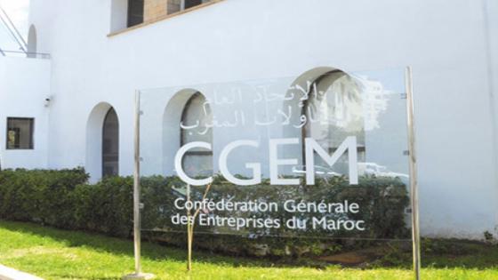
{"type": "MultiPolygon", "coordinates": [[[[115,108],[107,102],[100,102],[92,109],[86,123],[86,157],[84,168],[90,174],[92,182],[100,180],[104,174],[104,162],[102,159],[104,156],[104,123],[106,119],[108,122],[111,121],[110,123],[113,126],[119,124],[115,108]]],[[[116,130],[117,132],[110,133],[112,134],[110,137],[113,139],[119,137],[118,126],[116,130]]],[[[115,148],[112,148],[112,150],[116,151],[115,148]]],[[[118,157],[116,160],[118,161],[118,157]]]]}

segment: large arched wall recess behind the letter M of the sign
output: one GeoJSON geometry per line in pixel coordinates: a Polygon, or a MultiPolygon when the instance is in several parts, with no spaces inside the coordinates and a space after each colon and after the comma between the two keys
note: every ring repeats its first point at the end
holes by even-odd
{"type": "MultiPolygon", "coordinates": [[[[284,107],[292,109],[291,124],[302,124],[303,119],[305,124],[300,130],[286,131],[285,136],[301,139],[299,151],[291,151],[301,154],[301,164],[305,164],[306,137],[317,140],[322,148],[332,154],[346,136],[357,136],[358,160],[365,159],[362,90],[363,84],[356,77],[338,68],[313,68],[293,81],[286,92],[289,98],[284,107]]],[[[317,158],[316,164],[324,163],[317,158]]],[[[344,172],[341,167],[333,171],[344,172]]]]}

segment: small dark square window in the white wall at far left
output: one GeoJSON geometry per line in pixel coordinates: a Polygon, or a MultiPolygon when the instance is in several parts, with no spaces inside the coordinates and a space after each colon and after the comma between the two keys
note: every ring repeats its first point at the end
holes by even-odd
{"type": "Polygon", "coordinates": [[[34,126],[34,118],[8,117],[7,149],[33,149],[34,126]]]}

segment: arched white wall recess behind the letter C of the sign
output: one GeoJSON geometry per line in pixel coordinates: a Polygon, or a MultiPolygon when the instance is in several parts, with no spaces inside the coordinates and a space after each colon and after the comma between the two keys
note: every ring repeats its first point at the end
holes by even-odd
{"type": "MultiPolygon", "coordinates": [[[[211,108],[201,92],[195,89],[184,89],[173,95],[173,98],[166,105],[163,115],[163,172],[165,175],[175,174],[174,156],[182,144],[193,140],[202,140],[213,144],[212,128],[205,127],[205,123],[211,120],[211,108]],[[192,106],[196,108],[192,108],[192,106]],[[198,111],[198,116],[195,111],[198,111]],[[191,114],[191,116],[186,114],[191,114]],[[200,118],[199,116],[204,117],[200,118]],[[181,124],[184,127],[196,127],[187,131],[181,128],[181,124]],[[194,134],[199,134],[199,137],[194,134]]],[[[210,154],[211,159],[208,161],[213,164],[211,152],[200,150],[198,152],[204,153],[206,156],[210,154]]],[[[213,167],[211,166],[211,168],[213,167]]],[[[199,173],[198,175],[203,174],[199,173]]]]}

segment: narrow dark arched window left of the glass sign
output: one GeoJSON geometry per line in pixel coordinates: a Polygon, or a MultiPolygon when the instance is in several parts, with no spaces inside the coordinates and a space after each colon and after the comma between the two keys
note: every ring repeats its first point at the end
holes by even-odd
{"type": "Polygon", "coordinates": [[[109,108],[102,126],[102,177],[119,174],[119,121],[109,108]]]}

